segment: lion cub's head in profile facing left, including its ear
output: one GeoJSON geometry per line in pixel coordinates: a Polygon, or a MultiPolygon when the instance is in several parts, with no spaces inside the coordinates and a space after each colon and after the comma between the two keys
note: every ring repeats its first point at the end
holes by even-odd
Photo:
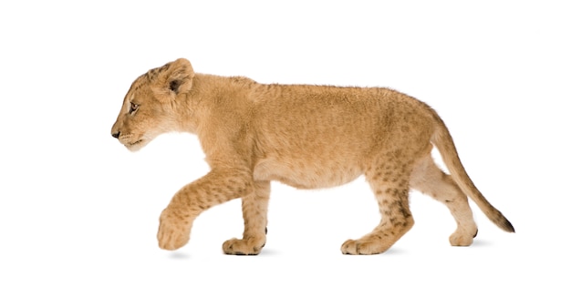
{"type": "Polygon", "coordinates": [[[191,90],[193,77],[187,59],[178,59],[138,77],[111,128],[113,138],[135,151],[162,133],[180,129],[181,115],[189,112],[183,94],[191,90]]]}

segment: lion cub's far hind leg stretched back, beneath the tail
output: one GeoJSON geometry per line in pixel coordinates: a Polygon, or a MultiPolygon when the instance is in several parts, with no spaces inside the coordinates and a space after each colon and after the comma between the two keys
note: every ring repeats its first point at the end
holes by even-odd
{"type": "Polygon", "coordinates": [[[442,172],[430,155],[421,159],[412,171],[410,187],[441,201],[456,220],[457,229],[449,241],[452,246],[470,246],[478,233],[468,198],[448,174],[442,172]]]}

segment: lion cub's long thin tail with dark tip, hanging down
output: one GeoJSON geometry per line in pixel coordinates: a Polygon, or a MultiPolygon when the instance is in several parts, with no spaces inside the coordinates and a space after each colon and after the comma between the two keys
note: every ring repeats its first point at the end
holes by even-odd
{"type": "Polygon", "coordinates": [[[478,190],[473,184],[472,179],[470,179],[466,173],[466,170],[462,166],[462,162],[458,157],[458,151],[454,146],[450,131],[446,128],[441,118],[438,117],[435,112],[433,113],[438,124],[436,131],[432,134],[431,142],[440,151],[442,160],[451,172],[452,179],[456,181],[456,184],[458,184],[462,192],[473,200],[488,219],[492,220],[495,225],[504,231],[515,232],[512,223],[504,217],[504,214],[502,214],[500,210],[495,209],[492,204],[483,197],[480,190],[478,190]]]}

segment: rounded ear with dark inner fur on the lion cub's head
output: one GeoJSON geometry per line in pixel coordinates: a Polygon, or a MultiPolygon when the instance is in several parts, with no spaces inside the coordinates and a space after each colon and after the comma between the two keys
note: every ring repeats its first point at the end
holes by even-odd
{"type": "Polygon", "coordinates": [[[188,92],[192,88],[194,70],[191,62],[180,58],[161,67],[158,78],[158,87],[155,89],[159,99],[173,99],[181,93],[188,92]],[[161,98],[162,97],[162,98],[161,98]]]}

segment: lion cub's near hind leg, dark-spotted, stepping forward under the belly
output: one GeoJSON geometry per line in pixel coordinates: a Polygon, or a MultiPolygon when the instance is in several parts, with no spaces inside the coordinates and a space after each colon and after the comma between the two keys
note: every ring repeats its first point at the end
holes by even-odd
{"type": "Polygon", "coordinates": [[[381,163],[365,173],[379,203],[381,220],[369,234],[348,240],[341,246],[344,254],[378,254],[387,251],[407,231],[414,220],[409,210],[409,180],[412,161],[381,163]]]}

